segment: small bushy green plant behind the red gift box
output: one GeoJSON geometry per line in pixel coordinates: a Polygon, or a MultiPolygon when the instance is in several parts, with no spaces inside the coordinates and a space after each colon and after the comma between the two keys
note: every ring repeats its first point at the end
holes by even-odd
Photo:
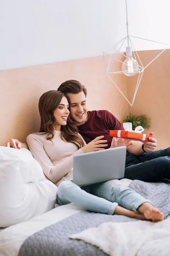
{"type": "Polygon", "coordinates": [[[126,119],[122,121],[122,123],[124,122],[131,122],[133,130],[135,130],[135,128],[139,125],[141,125],[144,129],[150,128],[150,118],[145,114],[135,116],[130,113],[129,116],[126,116],[126,119]]]}

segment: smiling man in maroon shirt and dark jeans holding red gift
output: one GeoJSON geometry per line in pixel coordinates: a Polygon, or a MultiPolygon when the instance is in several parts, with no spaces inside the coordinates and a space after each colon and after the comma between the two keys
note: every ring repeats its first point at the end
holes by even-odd
{"type": "MultiPolygon", "coordinates": [[[[86,143],[104,135],[107,148],[126,145],[126,140],[109,137],[109,130],[124,130],[113,114],[105,110],[87,111],[87,90],[79,81],[65,81],[58,90],[68,96],[71,119],[86,143]]],[[[150,142],[133,141],[127,147],[125,178],[147,182],[170,179],[170,148],[153,151],[156,143],[156,139],[150,138],[150,142]]]]}

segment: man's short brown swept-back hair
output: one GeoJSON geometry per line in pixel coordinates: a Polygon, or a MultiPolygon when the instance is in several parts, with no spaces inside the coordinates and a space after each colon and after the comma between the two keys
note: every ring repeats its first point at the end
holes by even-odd
{"type": "Polygon", "coordinates": [[[57,90],[64,93],[65,95],[67,93],[77,94],[84,92],[85,96],[87,96],[87,89],[77,80],[67,80],[62,83],[57,90]]]}

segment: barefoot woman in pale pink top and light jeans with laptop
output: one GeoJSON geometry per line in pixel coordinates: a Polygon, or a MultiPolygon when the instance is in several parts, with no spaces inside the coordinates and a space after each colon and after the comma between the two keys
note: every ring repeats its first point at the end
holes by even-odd
{"type": "MultiPolygon", "coordinates": [[[[70,202],[93,212],[125,215],[137,219],[162,221],[164,215],[150,201],[126,186],[113,187],[113,180],[79,187],[73,179],[73,156],[103,150],[104,136],[85,145],[77,126],[69,118],[69,105],[63,93],[50,90],[39,101],[41,127],[39,133],[27,137],[33,157],[40,163],[45,176],[58,186],[59,205],[70,202]]],[[[7,143],[7,146],[10,146],[7,143]]],[[[16,148],[18,141],[13,140],[16,148]]]]}

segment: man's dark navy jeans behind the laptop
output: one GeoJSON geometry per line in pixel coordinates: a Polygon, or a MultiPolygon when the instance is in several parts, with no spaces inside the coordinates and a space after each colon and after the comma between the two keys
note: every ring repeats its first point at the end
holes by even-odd
{"type": "Polygon", "coordinates": [[[125,163],[125,178],[147,182],[170,180],[170,148],[141,156],[129,154],[125,163]]]}

